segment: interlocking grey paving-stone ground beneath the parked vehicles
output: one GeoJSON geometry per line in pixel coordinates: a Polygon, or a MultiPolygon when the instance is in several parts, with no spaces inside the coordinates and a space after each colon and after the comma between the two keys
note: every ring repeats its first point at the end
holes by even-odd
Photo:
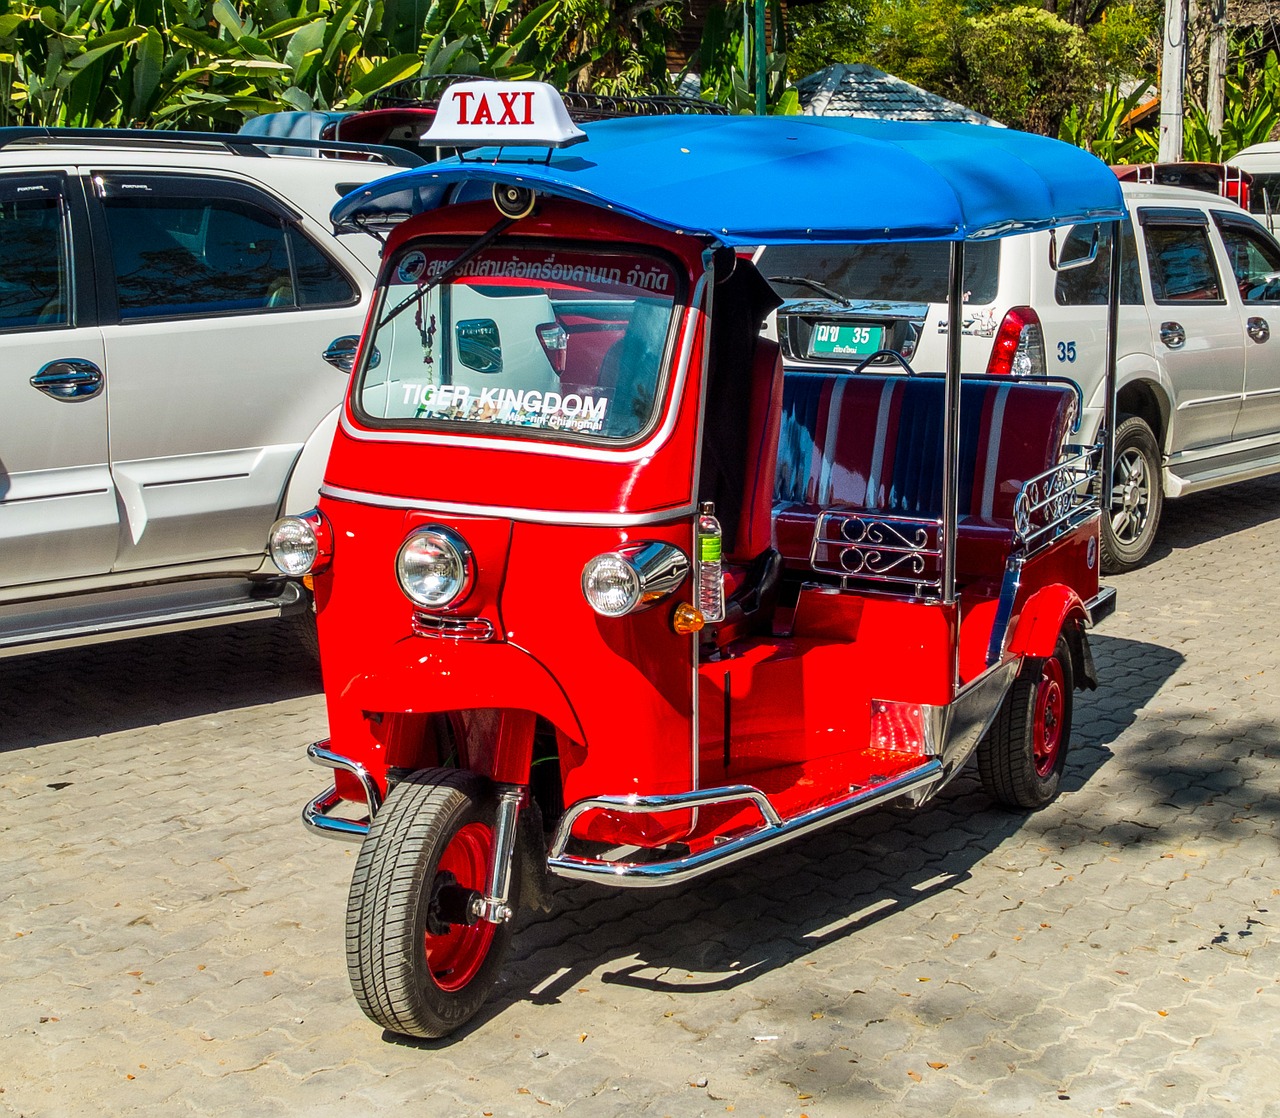
{"type": "Polygon", "coordinates": [[[347,986],[271,626],[0,661],[0,1112],[1280,1114],[1280,480],[1114,579],[1065,794],[965,775],[682,889],[561,885],[452,1041],[347,986]]]}

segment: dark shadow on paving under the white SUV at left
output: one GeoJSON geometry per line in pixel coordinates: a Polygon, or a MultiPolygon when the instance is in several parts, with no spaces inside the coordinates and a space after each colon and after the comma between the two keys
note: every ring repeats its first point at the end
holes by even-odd
{"type": "Polygon", "coordinates": [[[316,694],[289,621],[0,660],[0,753],[316,694]]]}

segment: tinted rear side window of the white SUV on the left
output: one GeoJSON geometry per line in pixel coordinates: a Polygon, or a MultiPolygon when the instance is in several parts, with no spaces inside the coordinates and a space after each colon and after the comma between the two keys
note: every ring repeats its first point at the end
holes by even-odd
{"type": "Polygon", "coordinates": [[[242,198],[108,196],[122,320],[353,302],[337,265],[292,223],[242,198]]]}

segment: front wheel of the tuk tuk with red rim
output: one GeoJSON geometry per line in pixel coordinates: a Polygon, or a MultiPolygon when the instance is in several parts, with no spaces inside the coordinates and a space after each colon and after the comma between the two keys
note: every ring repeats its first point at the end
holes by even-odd
{"type": "MultiPolygon", "coordinates": [[[[397,784],[374,817],[351,879],[347,971],[356,1001],[383,1028],[447,1036],[484,1004],[512,922],[447,923],[442,889],[484,894],[497,814],[484,777],[424,768],[397,784]],[[443,864],[442,864],[443,863],[443,864]]],[[[518,903],[512,876],[508,904],[518,903]]]]}

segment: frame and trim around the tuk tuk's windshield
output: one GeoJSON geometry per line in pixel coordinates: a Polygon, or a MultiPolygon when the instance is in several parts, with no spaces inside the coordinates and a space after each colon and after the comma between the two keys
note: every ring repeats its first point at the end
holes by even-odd
{"type": "MultiPolygon", "coordinates": [[[[678,382],[681,379],[675,378],[673,374],[676,371],[676,359],[680,357],[680,339],[685,336],[685,323],[690,309],[690,279],[687,266],[680,256],[658,246],[643,242],[595,241],[582,238],[548,239],[543,237],[499,237],[497,241],[484,246],[480,252],[475,254],[475,259],[483,259],[488,252],[547,252],[549,250],[580,252],[595,256],[627,255],[631,257],[639,257],[644,261],[659,263],[672,271],[675,278],[675,289],[669,293],[671,310],[667,321],[666,337],[662,343],[658,375],[654,382],[654,406],[645,423],[635,434],[620,438],[617,435],[603,433],[570,432],[552,426],[538,428],[524,426],[520,424],[494,424],[461,419],[442,420],[429,416],[383,419],[370,415],[361,406],[361,387],[364,384],[364,377],[369,370],[370,357],[375,350],[376,332],[385,324],[384,318],[388,311],[394,309],[394,304],[389,302],[392,295],[390,279],[396,274],[394,269],[398,261],[406,257],[410,252],[417,250],[429,254],[439,254],[444,250],[445,254],[453,252],[454,259],[461,259],[468,255],[468,250],[476,243],[477,239],[479,238],[476,237],[457,234],[426,234],[422,237],[413,237],[412,239],[398,243],[394,254],[384,259],[378,279],[378,287],[370,305],[369,318],[366,319],[366,334],[364,343],[361,344],[360,361],[351,371],[351,385],[348,391],[351,417],[360,425],[360,428],[380,435],[392,435],[397,441],[406,437],[416,439],[421,435],[433,435],[440,439],[465,439],[468,443],[474,443],[475,441],[486,443],[493,439],[498,439],[503,446],[511,446],[520,442],[532,442],[535,444],[553,444],[557,447],[573,446],[599,451],[623,451],[649,441],[659,426],[662,426],[663,416],[667,415],[671,407],[669,392],[673,380],[678,382]]],[[[448,266],[452,265],[447,265],[447,268],[448,266]]],[[[448,287],[452,283],[453,279],[451,278],[445,282],[445,284],[442,284],[442,287],[448,287]]],[[[667,293],[662,292],[662,295],[667,293]]],[[[584,297],[589,296],[584,293],[584,297]]]]}

